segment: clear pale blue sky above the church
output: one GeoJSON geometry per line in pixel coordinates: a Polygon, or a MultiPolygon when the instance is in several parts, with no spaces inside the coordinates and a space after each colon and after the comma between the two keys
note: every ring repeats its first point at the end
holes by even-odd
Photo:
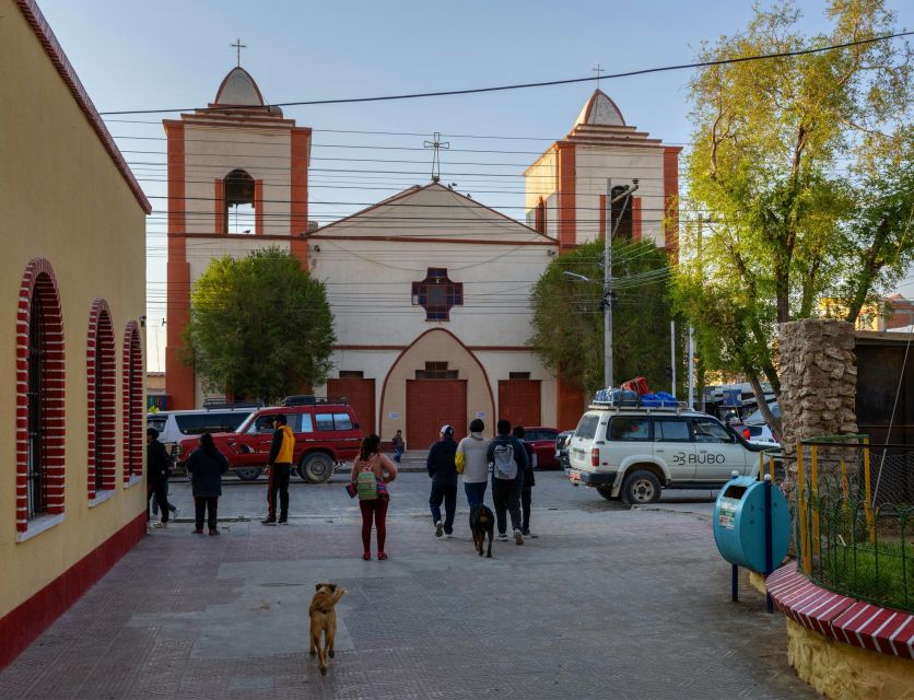
{"type": "MultiPolygon", "coordinates": [[[[265,98],[277,103],[584,78],[594,75],[598,63],[609,72],[683,63],[694,60],[703,40],[736,33],[752,16],[749,0],[39,4],[102,113],[206,106],[235,66],[230,44],[237,37],[247,45],[242,66],[265,98]]],[[[802,0],[797,7],[802,31],[828,31],[823,2],[802,0]]],[[[891,0],[887,7],[898,13],[899,27],[914,28],[914,2],[891,0]]],[[[604,80],[600,86],[628,124],[666,143],[687,144],[690,75],[673,71],[604,80]]],[[[440,131],[450,144],[442,156],[442,180],[523,220],[522,173],[537,153],[569,131],[594,88],[585,83],[284,108],[286,117],[315,129],[313,166],[325,168],[312,170],[310,218],[327,223],[412,184],[427,183],[431,155],[422,144],[427,135],[440,131]],[[372,170],[385,172],[366,172],[372,170]]],[[[161,120],[174,116],[106,117],[154,209],[147,231],[151,371],[164,369],[166,189],[161,120]]],[[[914,276],[900,291],[914,296],[914,276]]]]}

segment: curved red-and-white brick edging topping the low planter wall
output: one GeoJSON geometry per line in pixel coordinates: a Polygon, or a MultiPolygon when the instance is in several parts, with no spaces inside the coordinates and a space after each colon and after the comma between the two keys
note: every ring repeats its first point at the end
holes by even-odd
{"type": "Polygon", "coordinates": [[[856,600],[822,588],[796,563],[785,564],[766,581],[775,605],[797,625],[852,646],[901,658],[914,658],[914,615],[856,600]]]}

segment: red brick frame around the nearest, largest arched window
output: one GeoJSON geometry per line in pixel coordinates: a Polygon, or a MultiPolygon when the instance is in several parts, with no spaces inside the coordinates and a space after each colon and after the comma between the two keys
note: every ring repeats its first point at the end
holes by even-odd
{"type": "Polygon", "coordinates": [[[65,439],[63,416],[66,368],[63,358],[63,316],[57,279],[50,262],[34,258],[25,268],[19,292],[16,317],[16,530],[28,529],[28,325],[35,294],[45,311],[47,343],[45,353],[46,396],[43,409],[47,432],[45,436],[48,501],[47,514],[63,513],[65,439]]]}

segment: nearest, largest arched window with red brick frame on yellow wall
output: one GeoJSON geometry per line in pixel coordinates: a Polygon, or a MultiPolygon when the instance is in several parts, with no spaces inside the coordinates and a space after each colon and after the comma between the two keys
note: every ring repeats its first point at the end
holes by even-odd
{"type": "Polygon", "coordinates": [[[25,268],[16,318],[16,530],[63,513],[63,317],[50,262],[25,268]]]}

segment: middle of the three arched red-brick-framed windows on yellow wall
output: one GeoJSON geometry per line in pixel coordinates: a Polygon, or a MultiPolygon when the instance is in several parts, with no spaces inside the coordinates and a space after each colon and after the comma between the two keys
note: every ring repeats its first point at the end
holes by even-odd
{"type": "Polygon", "coordinates": [[[96,299],[89,314],[86,339],[86,385],[89,428],[89,500],[117,485],[117,358],[112,312],[104,299],[96,299]]]}

